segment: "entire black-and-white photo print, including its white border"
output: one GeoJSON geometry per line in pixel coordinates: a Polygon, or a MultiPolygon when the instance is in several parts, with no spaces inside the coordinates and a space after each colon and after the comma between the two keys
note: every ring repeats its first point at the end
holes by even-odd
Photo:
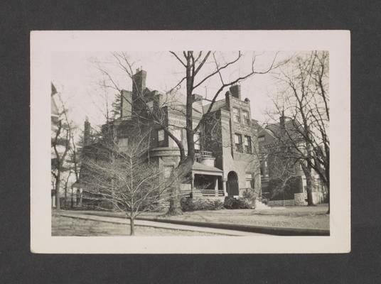
{"type": "Polygon", "coordinates": [[[33,33],[32,251],[350,251],[348,33],[33,33]]]}

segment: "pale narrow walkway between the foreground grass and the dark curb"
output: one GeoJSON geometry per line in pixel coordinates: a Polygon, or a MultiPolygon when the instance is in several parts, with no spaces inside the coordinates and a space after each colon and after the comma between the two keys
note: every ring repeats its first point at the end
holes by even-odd
{"type": "MultiPolygon", "coordinates": [[[[81,212],[55,212],[55,214],[58,214],[63,217],[70,217],[70,218],[77,218],[77,219],[87,219],[92,221],[98,221],[98,222],[109,222],[114,224],[129,224],[129,221],[127,219],[122,219],[118,217],[104,217],[104,216],[97,216],[97,215],[89,215],[89,214],[83,214],[81,212]]],[[[269,236],[266,234],[258,234],[258,233],[251,233],[247,231],[236,231],[236,230],[228,230],[228,229],[215,229],[215,228],[208,228],[208,227],[201,227],[201,226],[188,226],[188,225],[181,225],[181,224],[170,224],[170,223],[161,223],[161,222],[153,222],[153,221],[146,221],[146,220],[135,220],[136,226],[150,226],[154,228],[161,228],[161,229],[176,229],[176,230],[182,230],[182,231],[200,231],[200,232],[206,232],[211,234],[218,234],[222,236],[269,236]]]]}

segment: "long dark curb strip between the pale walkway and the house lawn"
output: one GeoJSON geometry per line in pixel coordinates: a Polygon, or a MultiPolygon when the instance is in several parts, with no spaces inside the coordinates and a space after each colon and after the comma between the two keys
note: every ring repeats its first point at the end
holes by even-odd
{"type": "MultiPolygon", "coordinates": [[[[88,212],[85,214],[89,215],[98,215],[106,217],[107,214],[94,214],[88,212]]],[[[111,216],[107,217],[116,217],[124,218],[122,216],[111,216]]],[[[170,224],[179,224],[179,225],[189,225],[189,226],[202,226],[209,227],[213,229],[228,229],[234,231],[248,231],[251,233],[259,234],[269,234],[275,236],[330,236],[330,231],[327,229],[309,229],[309,228],[291,228],[291,227],[276,227],[276,226],[255,226],[255,225],[241,225],[241,224],[227,224],[227,223],[207,223],[207,222],[198,222],[198,221],[183,221],[183,220],[173,220],[173,219],[161,219],[161,218],[149,218],[149,217],[136,217],[136,220],[145,220],[153,222],[163,222],[170,224]]]]}

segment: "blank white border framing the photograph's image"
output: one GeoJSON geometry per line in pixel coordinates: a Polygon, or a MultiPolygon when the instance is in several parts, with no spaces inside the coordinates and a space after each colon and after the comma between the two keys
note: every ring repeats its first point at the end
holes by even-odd
{"type": "Polygon", "coordinates": [[[33,253],[350,252],[350,32],[32,31],[31,251],[33,253]],[[328,50],[331,94],[331,235],[51,236],[50,55],[57,51],[112,50],[328,50]]]}

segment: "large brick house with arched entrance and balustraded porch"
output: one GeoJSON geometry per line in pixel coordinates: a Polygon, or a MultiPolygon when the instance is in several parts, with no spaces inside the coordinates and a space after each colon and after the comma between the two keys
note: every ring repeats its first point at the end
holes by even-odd
{"type": "MultiPolygon", "coordinates": [[[[160,126],[139,120],[144,117],[146,106],[154,111],[160,109],[165,124],[187,151],[185,96],[177,92],[162,94],[147,88],[144,70],[136,70],[133,82],[132,92],[122,90],[120,118],[105,124],[103,133],[112,133],[120,147],[128,147],[132,127],[141,124],[142,128],[150,129],[147,158],[159,167],[162,178],[167,178],[180,161],[178,146],[160,126]]],[[[203,105],[203,97],[193,94],[194,126],[209,107],[210,104],[203,105]]],[[[255,190],[259,195],[257,126],[252,123],[250,114],[249,99],[242,101],[240,85],[230,87],[225,99],[215,102],[200,131],[195,133],[195,161],[190,180],[181,184],[183,195],[238,197],[245,190],[255,190]]],[[[92,147],[85,147],[84,152],[94,153],[92,147]]]]}

